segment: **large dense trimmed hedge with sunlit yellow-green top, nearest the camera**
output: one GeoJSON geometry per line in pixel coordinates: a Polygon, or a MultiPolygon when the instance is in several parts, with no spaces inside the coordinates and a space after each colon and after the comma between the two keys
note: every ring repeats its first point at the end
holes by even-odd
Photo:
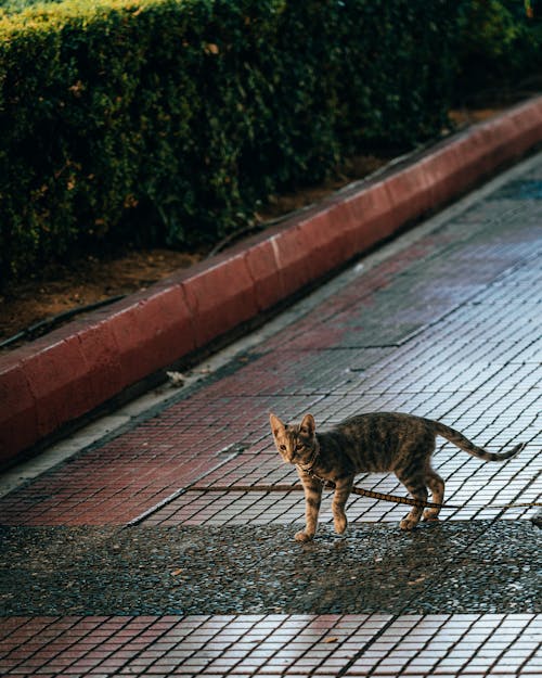
{"type": "Polygon", "coordinates": [[[0,282],[111,243],[215,241],[345,155],[438,133],[460,4],[8,5],[0,282]]]}

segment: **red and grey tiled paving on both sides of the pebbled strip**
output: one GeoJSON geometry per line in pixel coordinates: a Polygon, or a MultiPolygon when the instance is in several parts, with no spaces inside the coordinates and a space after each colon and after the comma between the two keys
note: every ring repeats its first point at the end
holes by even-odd
{"type": "MultiPolygon", "coordinates": [[[[310,410],[325,426],[378,409],[441,419],[490,450],[526,442],[521,453],[503,464],[479,462],[449,443],[435,457],[447,479],[447,501],[465,504],[443,513],[442,529],[450,523],[468,534],[491,519],[506,521],[509,529],[525,524],[535,509],[481,508],[540,501],[542,490],[542,155],[507,177],[393,256],[361,269],[352,282],[219,373],[0,499],[0,523],[59,529],[179,526],[198,534],[223,525],[233,540],[246,526],[282,526],[289,540],[293,523],[302,519],[300,495],[185,490],[294,483],[295,473],[272,448],[269,410],[286,420],[310,410]]],[[[360,476],[358,484],[404,494],[391,476],[360,476]]],[[[354,498],[347,513],[361,526],[397,522],[404,509],[354,498]]],[[[330,501],[321,522],[321,538],[333,539],[330,501]]],[[[540,535],[534,527],[529,534],[540,535]]],[[[465,559],[467,552],[465,547],[465,559]]],[[[31,552],[25,557],[31,559],[31,552]]],[[[219,565],[209,562],[210,570],[219,565]]],[[[469,586],[476,598],[476,585],[469,586]]],[[[479,586],[498,589],[499,579],[480,573],[479,586]]],[[[0,674],[542,673],[540,586],[520,612],[505,602],[494,612],[461,614],[446,604],[440,614],[271,612],[8,615],[0,619],[0,674]]]]}

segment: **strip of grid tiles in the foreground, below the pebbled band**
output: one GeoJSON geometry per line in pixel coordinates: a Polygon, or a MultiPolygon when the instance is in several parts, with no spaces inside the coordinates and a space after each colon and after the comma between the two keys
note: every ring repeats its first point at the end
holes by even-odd
{"type": "Polygon", "coordinates": [[[16,617],[10,675],[540,676],[532,614],[16,617]]]}

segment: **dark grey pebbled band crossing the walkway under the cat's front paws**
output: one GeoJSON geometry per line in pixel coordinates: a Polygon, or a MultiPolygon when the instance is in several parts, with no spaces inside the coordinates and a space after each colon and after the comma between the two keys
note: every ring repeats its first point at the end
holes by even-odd
{"type": "Polygon", "coordinates": [[[532,613],[529,521],[322,526],[0,527],[0,614],[532,613]]]}

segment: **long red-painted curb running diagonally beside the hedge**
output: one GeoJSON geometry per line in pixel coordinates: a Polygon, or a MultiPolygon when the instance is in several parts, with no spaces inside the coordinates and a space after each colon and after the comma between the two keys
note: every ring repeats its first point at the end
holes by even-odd
{"type": "Polygon", "coordinates": [[[542,97],[0,357],[0,463],[270,309],[542,141],[542,97]]]}

